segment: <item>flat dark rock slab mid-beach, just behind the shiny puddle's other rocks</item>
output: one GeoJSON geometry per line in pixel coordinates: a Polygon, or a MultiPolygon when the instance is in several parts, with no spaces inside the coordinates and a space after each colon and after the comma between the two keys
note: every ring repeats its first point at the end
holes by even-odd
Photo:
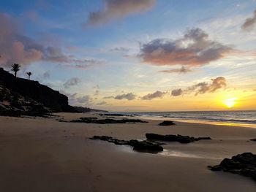
{"type": "Polygon", "coordinates": [[[182,136],[180,134],[146,134],[146,138],[148,140],[158,140],[158,141],[165,141],[165,142],[180,142],[180,143],[189,143],[195,142],[202,139],[211,139],[211,137],[189,137],[189,136],[182,136]]]}

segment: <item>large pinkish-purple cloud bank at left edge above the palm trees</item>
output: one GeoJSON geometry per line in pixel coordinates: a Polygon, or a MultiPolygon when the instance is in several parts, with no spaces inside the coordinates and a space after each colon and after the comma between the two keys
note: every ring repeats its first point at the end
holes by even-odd
{"type": "Polygon", "coordinates": [[[14,18],[0,13],[0,66],[10,66],[13,63],[26,66],[37,61],[49,61],[68,67],[88,69],[102,64],[102,61],[78,59],[74,55],[67,55],[61,47],[55,45],[56,42],[50,45],[51,42],[44,40],[44,43],[41,43],[27,37],[14,18]]]}

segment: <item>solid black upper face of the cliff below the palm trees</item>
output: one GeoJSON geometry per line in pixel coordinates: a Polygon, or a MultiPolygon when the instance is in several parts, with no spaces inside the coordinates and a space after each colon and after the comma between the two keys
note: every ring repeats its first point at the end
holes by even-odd
{"type": "Polygon", "coordinates": [[[74,108],[69,106],[67,96],[37,81],[15,77],[2,68],[0,68],[0,85],[11,94],[15,93],[26,101],[36,101],[52,112],[75,112],[74,108]]]}

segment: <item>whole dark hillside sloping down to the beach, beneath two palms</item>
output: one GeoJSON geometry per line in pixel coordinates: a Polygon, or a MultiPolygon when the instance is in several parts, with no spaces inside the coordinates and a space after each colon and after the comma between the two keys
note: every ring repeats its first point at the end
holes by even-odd
{"type": "Polygon", "coordinates": [[[15,77],[0,68],[0,115],[38,115],[45,112],[101,112],[72,107],[68,98],[38,81],[15,77]]]}

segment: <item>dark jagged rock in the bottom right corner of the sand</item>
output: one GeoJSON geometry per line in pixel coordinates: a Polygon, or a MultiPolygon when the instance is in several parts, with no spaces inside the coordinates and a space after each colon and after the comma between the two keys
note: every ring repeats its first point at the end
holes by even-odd
{"type": "Polygon", "coordinates": [[[256,155],[252,153],[242,153],[225,158],[217,166],[208,166],[211,171],[224,171],[234,174],[241,174],[252,177],[256,181],[256,155]]]}

